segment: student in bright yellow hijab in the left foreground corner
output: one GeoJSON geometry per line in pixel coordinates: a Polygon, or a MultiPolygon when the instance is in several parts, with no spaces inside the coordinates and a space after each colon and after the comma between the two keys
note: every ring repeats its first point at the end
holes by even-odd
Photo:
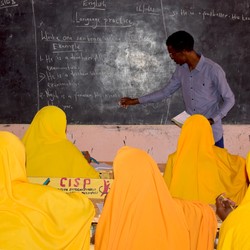
{"type": "Polygon", "coordinates": [[[0,131],[0,249],[89,250],[94,214],[81,193],[29,183],[22,142],[0,131]]]}

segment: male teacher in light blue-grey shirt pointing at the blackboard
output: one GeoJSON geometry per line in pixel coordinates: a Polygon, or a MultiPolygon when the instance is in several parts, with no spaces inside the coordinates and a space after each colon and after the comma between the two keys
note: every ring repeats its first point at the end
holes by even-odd
{"type": "Polygon", "coordinates": [[[171,59],[177,64],[169,83],[139,98],[123,97],[120,105],[127,107],[158,102],[170,97],[181,87],[186,112],[204,115],[212,126],[215,145],[224,148],[222,118],[235,103],[224,70],[194,50],[194,39],[186,31],[170,35],[166,45],[171,59]]]}

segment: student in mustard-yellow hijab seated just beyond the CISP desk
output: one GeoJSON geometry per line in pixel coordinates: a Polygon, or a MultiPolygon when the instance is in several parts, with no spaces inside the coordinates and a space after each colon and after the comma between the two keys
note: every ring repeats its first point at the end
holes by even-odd
{"type": "Polygon", "coordinates": [[[67,139],[67,119],[56,106],[37,112],[22,141],[28,176],[99,178],[82,152],[67,139]]]}

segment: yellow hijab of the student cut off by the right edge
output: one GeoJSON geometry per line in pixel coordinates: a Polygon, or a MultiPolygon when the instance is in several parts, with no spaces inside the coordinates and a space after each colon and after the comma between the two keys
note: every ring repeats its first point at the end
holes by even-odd
{"type": "MultiPolygon", "coordinates": [[[[247,156],[247,172],[250,175],[250,153],[247,156]]],[[[218,250],[250,249],[250,189],[241,204],[223,221],[219,233],[218,250]]]]}

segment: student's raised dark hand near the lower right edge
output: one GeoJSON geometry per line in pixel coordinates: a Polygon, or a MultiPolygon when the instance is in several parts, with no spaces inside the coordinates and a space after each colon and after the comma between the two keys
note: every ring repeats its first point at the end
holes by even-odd
{"type": "Polygon", "coordinates": [[[226,198],[224,194],[220,194],[216,198],[216,213],[222,221],[234,210],[236,204],[234,201],[226,198]]]}

